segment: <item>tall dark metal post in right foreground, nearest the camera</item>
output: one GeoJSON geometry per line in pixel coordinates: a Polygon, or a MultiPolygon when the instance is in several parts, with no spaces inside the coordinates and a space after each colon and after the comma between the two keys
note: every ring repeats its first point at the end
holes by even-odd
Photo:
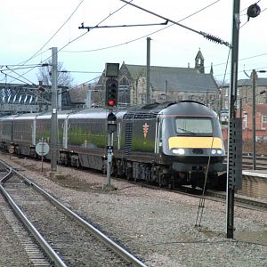
{"type": "Polygon", "coordinates": [[[227,238],[233,238],[234,231],[234,193],[235,186],[231,186],[231,166],[232,155],[230,147],[232,144],[231,137],[231,118],[236,117],[236,101],[237,101],[237,90],[238,90],[238,65],[239,65],[239,9],[240,0],[234,0],[233,2],[233,14],[232,14],[232,47],[231,47],[231,87],[230,87],[230,108],[229,108],[229,124],[228,124],[228,165],[227,165],[227,238]]]}

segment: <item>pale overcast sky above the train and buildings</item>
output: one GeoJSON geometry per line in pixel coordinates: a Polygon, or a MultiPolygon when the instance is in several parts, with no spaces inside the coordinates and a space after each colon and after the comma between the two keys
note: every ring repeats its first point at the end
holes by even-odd
{"type": "MultiPolygon", "coordinates": [[[[258,1],[262,12],[248,22],[247,7],[255,1],[240,2],[239,78],[245,78],[244,70],[248,75],[252,69],[267,70],[267,0],[258,1]]],[[[132,3],[231,43],[233,0],[134,0],[132,3]]],[[[227,67],[226,80],[230,81],[231,57],[226,65],[229,47],[170,22],[164,26],[93,28],[90,31],[78,28],[82,22],[85,27],[93,27],[165,21],[120,0],[3,0],[0,82],[37,84],[38,69],[14,68],[25,61],[23,68],[44,63],[51,57],[51,47],[57,47],[58,61],[66,70],[73,71],[75,84],[93,83],[106,62],[146,65],[148,36],[151,38],[151,66],[186,68],[190,64],[193,68],[200,49],[205,58],[205,71],[209,72],[213,63],[215,79],[223,81],[227,67]],[[7,71],[6,66],[13,70],[7,71]]],[[[261,74],[261,77],[266,75],[261,74]]]]}

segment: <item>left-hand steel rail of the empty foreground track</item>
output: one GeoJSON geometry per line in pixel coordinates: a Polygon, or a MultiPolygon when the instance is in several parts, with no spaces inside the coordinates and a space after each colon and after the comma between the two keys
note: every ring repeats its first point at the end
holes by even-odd
{"type": "Polygon", "coordinates": [[[4,162],[1,162],[4,166],[9,168],[9,173],[4,176],[0,181],[0,190],[2,191],[4,197],[7,199],[10,206],[12,206],[13,211],[20,218],[20,221],[27,227],[28,231],[34,236],[36,242],[44,249],[46,255],[52,260],[56,266],[67,267],[67,265],[61,260],[61,257],[53,250],[53,248],[45,241],[43,236],[36,230],[35,226],[28,221],[28,218],[22,213],[20,207],[16,205],[9,193],[4,189],[3,183],[6,182],[12,176],[12,167],[7,166],[4,162]]]}

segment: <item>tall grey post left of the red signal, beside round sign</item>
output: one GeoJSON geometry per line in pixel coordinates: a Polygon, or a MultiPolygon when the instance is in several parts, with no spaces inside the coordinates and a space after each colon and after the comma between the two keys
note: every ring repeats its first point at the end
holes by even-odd
{"type": "Polygon", "coordinates": [[[58,116],[57,116],[58,49],[52,48],[52,117],[51,117],[51,171],[57,171],[58,116]]]}

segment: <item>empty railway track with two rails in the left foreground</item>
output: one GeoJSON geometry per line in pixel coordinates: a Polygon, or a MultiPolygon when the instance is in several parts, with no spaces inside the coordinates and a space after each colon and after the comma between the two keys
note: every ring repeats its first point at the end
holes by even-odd
{"type": "Polygon", "coordinates": [[[45,266],[145,266],[27,177],[9,166],[4,170],[1,191],[42,248],[36,258],[50,259],[45,266]]]}

